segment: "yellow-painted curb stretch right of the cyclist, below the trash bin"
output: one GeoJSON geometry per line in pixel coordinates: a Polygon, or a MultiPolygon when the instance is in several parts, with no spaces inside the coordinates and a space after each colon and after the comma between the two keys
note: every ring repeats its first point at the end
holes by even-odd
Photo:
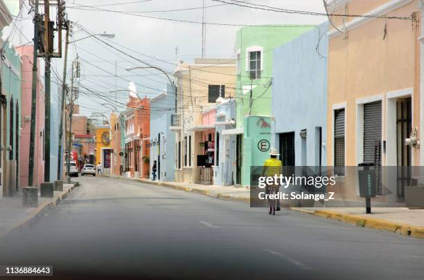
{"type": "Polygon", "coordinates": [[[400,235],[415,237],[417,239],[424,239],[424,227],[394,223],[378,218],[367,218],[360,215],[343,214],[332,210],[307,210],[297,207],[290,207],[290,209],[297,212],[319,216],[321,218],[327,218],[328,220],[349,223],[358,227],[368,227],[373,230],[384,230],[387,232],[398,233],[400,235]]]}

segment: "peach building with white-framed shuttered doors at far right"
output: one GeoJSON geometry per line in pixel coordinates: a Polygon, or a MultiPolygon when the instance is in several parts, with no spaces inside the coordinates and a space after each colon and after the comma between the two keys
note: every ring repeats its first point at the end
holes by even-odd
{"type": "MultiPolygon", "coordinates": [[[[420,1],[328,1],[338,15],[396,17],[339,17],[328,31],[328,165],[420,165],[421,149],[405,145],[420,135],[420,1]]],[[[403,198],[410,174],[385,174],[393,198],[403,198]],[[400,176],[403,176],[402,178],[400,176]],[[397,182],[397,183],[396,183],[397,182]],[[390,184],[389,184],[390,185],[390,184]]],[[[383,194],[383,189],[379,189],[383,194]]],[[[357,196],[351,188],[349,196],[357,196]]]]}

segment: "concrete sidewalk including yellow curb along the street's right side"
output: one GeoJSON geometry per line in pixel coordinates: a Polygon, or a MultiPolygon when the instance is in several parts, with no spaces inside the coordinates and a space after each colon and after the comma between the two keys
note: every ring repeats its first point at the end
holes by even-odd
{"type": "MultiPolygon", "coordinates": [[[[222,187],[217,185],[200,185],[190,183],[175,183],[142,179],[125,178],[121,176],[105,175],[112,178],[121,178],[125,180],[136,180],[153,185],[161,185],[173,189],[179,189],[185,192],[194,192],[204,194],[220,199],[250,202],[250,191],[244,187],[222,187]]],[[[350,223],[360,227],[369,227],[376,230],[386,230],[407,236],[424,239],[424,209],[408,209],[406,207],[373,207],[373,214],[365,214],[363,207],[351,208],[298,208],[291,207],[294,211],[312,214],[315,216],[328,218],[330,220],[350,223]]]]}

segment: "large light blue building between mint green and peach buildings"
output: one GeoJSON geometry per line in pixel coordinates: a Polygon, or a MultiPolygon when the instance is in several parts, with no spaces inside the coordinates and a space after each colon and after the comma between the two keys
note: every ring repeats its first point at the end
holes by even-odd
{"type": "Polygon", "coordinates": [[[326,166],[328,23],[274,49],[272,146],[285,166],[326,166]]]}

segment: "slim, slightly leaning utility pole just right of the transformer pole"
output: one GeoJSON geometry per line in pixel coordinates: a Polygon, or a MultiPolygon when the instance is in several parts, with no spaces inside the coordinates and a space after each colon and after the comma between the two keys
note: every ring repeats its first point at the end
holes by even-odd
{"type": "Polygon", "coordinates": [[[68,61],[68,45],[69,45],[69,31],[71,23],[65,21],[65,28],[67,30],[67,37],[65,39],[65,50],[64,50],[64,66],[63,66],[63,77],[62,77],[62,99],[60,105],[60,128],[59,128],[59,149],[58,149],[58,180],[60,180],[60,171],[63,170],[62,165],[62,137],[63,137],[63,119],[64,119],[64,105],[65,105],[65,93],[67,91],[67,61],[68,61]]]}

